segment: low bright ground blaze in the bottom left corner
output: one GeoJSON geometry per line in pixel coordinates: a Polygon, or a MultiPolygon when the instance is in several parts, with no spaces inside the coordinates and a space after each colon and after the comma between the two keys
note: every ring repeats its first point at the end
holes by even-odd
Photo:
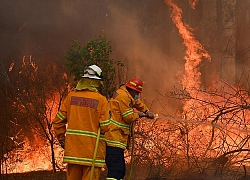
{"type": "MultiPolygon", "coordinates": [[[[56,161],[63,169],[62,153],[59,146],[54,147],[56,161]]],[[[7,173],[23,173],[39,170],[52,170],[51,150],[49,143],[35,136],[35,140],[30,142],[26,137],[25,141],[19,144],[17,149],[5,154],[7,159],[4,163],[7,173]]],[[[6,172],[2,172],[6,173],[6,172]]]]}

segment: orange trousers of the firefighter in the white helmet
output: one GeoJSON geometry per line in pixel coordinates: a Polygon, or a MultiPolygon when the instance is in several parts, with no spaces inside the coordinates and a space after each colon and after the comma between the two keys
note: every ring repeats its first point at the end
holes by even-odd
{"type": "MultiPolygon", "coordinates": [[[[78,164],[67,165],[67,180],[89,180],[91,173],[91,166],[83,166],[78,164]]],[[[95,167],[93,180],[99,180],[101,168],[95,167]]]]}

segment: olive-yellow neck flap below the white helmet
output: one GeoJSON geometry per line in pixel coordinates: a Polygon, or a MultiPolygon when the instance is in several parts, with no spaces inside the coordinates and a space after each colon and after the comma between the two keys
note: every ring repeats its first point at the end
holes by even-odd
{"type": "Polygon", "coordinates": [[[90,91],[98,91],[98,88],[102,86],[102,81],[97,79],[82,78],[76,85],[76,90],[81,91],[88,89],[90,91]]]}

